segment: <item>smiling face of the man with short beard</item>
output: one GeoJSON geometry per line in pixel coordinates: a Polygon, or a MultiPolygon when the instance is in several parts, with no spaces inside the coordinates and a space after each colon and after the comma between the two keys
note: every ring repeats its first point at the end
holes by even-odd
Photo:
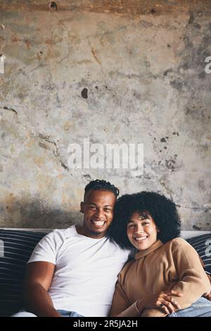
{"type": "Polygon", "coordinates": [[[87,237],[102,238],[113,220],[116,198],[113,192],[91,190],[84,196],[81,211],[84,213],[82,234],[87,237]]]}

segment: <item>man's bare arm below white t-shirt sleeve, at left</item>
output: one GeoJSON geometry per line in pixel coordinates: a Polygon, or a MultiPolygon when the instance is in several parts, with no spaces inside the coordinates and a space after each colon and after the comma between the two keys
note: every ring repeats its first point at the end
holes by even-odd
{"type": "Polygon", "coordinates": [[[25,308],[37,316],[60,317],[53,307],[48,293],[55,265],[53,263],[37,261],[28,263],[25,276],[23,299],[25,308]]]}

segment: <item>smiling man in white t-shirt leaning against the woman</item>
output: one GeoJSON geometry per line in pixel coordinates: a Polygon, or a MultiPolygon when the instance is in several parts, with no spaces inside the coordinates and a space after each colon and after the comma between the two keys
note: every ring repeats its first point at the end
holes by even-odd
{"type": "Polygon", "coordinates": [[[119,190],[105,180],[85,187],[83,225],[54,230],[27,264],[23,316],[108,316],[117,275],[130,251],[106,237],[119,190]]]}

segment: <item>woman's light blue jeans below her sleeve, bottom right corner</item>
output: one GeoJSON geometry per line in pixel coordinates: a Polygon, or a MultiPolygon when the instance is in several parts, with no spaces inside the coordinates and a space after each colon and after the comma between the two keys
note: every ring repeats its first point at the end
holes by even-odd
{"type": "Polygon", "coordinates": [[[211,301],[201,297],[190,307],[175,311],[168,317],[211,317],[211,301]]]}

